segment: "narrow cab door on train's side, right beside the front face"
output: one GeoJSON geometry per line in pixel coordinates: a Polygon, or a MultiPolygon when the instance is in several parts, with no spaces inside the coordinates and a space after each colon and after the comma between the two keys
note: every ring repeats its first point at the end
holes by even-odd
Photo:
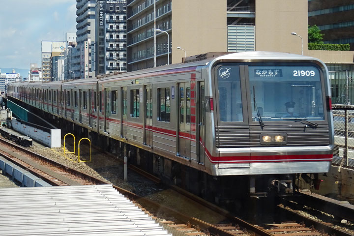
{"type": "Polygon", "coordinates": [[[198,82],[198,163],[205,163],[205,87],[204,82],[198,82]]]}

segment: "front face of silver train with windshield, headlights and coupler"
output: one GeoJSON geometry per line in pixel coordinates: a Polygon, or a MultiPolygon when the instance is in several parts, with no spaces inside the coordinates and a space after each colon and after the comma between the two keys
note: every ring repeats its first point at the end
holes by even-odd
{"type": "Polygon", "coordinates": [[[229,183],[222,192],[235,191],[230,176],[255,196],[292,194],[298,173],[318,187],[318,173],[329,171],[334,146],[324,63],[246,52],[214,59],[209,74],[215,95],[207,103],[207,127],[214,139],[206,140],[206,155],[212,175],[229,183]]]}

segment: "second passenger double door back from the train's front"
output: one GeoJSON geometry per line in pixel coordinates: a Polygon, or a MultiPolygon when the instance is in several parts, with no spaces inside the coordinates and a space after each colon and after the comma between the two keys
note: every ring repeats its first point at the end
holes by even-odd
{"type": "Polygon", "coordinates": [[[152,146],[152,87],[145,86],[145,145],[152,146]]]}

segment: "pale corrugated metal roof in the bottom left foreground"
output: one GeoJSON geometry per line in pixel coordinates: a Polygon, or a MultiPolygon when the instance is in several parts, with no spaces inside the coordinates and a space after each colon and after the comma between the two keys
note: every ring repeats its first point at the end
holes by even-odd
{"type": "Polygon", "coordinates": [[[0,236],[169,235],[112,185],[0,189],[0,236]]]}

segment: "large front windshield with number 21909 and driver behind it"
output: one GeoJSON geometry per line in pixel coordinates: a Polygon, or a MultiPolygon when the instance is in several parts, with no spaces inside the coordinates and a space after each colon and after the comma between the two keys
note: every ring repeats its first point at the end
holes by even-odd
{"type": "Polygon", "coordinates": [[[316,66],[248,66],[252,120],[324,120],[316,66]]]}

